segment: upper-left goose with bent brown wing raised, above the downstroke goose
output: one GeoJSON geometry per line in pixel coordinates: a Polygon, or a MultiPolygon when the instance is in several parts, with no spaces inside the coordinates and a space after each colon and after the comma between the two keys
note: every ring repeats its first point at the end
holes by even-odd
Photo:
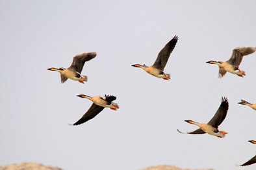
{"type": "Polygon", "coordinates": [[[96,57],[96,52],[85,52],[82,54],[77,54],[73,57],[73,62],[71,63],[68,69],[60,67],[60,69],[51,67],[47,70],[60,72],[61,83],[70,78],[71,80],[79,81],[80,83],[84,83],[87,81],[87,76],[83,76],[81,71],[83,70],[84,63],[86,61],[90,61],[91,59],[96,57]]]}

